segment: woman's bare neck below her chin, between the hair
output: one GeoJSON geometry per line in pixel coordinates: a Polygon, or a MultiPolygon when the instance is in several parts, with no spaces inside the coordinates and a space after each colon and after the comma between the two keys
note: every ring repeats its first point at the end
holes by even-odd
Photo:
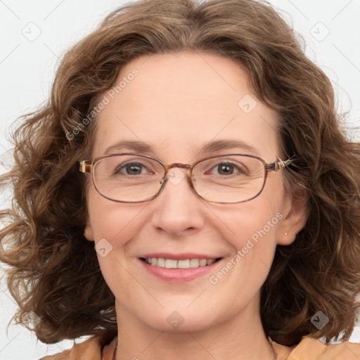
{"type": "MultiPolygon", "coordinates": [[[[228,321],[192,331],[154,330],[117,305],[116,359],[272,360],[274,349],[266,337],[259,314],[242,311],[228,321]]],[[[276,349],[276,352],[278,349],[276,349]]]]}

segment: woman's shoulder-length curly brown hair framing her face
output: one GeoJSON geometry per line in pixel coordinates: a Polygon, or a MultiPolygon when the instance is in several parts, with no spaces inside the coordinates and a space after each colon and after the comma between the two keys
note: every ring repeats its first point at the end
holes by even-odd
{"type": "Polygon", "coordinates": [[[252,91],[280,115],[282,151],[295,163],[285,184],[305,194],[307,224],[293,244],[278,245],[262,287],[266,334],[282,345],[303,335],[348,338],[359,308],[360,144],[346,138],[330,81],[297,34],[254,0],[126,4],[65,54],[49,101],[20,118],[15,162],[0,178],[13,186],[13,205],[0,214],[0,260],[19,306],[13,320],[34,311],[46,343],[117,328],[114,295],[84,238],[78,160],[89,158],[96,129],[84,119],[124,64],[184,50],[231,58],[248,72],[252,91]],[[320,330],[310,321],[319,310],[330,319],[320,330]]]}

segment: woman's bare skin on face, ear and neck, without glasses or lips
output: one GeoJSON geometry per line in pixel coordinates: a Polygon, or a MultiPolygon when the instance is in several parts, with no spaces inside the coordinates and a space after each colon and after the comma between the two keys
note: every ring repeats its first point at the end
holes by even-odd
{"type": "MultiPolygon", "coordinates": [[[[236,139],[255,147],[267,162],[282,158],[278,115],[260,103],[250,91],[248,75],[232,60],[191,52],[144,56],[127,63],[117,83],[134,68],[139,75],[98,115],[93,157],[127,139],[151,143],[153,153],[148,155],[165,164],[192,164],[209,155],[246,153],[242,148],[199,153],[203,143],[236,139]],[[257,101],[250,113],[238,106],[245,94],[257,101]]],[[[117,152],[122,150],[131,149],[117,152]]],[[[283,172],[269,172],[262,193],[237,204],[200,199],[186,179],[176,185],[168,181],[158,198],[148,202],[115,203],[96,191],[88,175],[84,234],[95,243],[105,238],[113,246],[98,261],[115,295],[117,359],[171,360],[179,354],[184,360],[273,359],[259,317],[260,288],[276,245],[292,243],[306,217],[304,204],[285,192],[283,172]],[[279,212],[282,219],[266,236],[216,285],[210,283],[209,276],[279,212]],[[206,276],[168,283],[139,263],[139,256],[150,252],[196,252],[223,259],[206,276]],[[174,311],[184,320],[178,328],[167,321],[174,311]]],[[[291,351],[275,346],[278,359],[291,351]]]]}

